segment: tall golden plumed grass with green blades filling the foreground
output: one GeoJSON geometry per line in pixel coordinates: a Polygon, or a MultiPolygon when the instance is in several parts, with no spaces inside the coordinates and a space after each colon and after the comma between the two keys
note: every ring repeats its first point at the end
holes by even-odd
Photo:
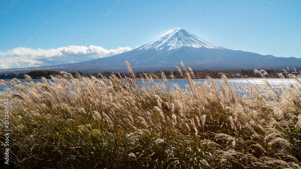
{"type": "MultiPolygon", "coordinates": [[[[1,112],[5,98],[11,109],[9,167],[301,168],[300,76],[243,94],[225,76],[200,83],[183,68],[185,90],[164,75],[160,85],[66,72],[53,82],[1,80],[1,112]]],[[[1,123],[2,147],[4,130],[1,123]]]]}

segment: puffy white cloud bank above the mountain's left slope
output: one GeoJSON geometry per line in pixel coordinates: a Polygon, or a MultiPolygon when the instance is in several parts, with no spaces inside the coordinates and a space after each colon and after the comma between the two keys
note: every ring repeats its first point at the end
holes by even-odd
{"type": "Polygon", "coordinates": [[[130,47],[104,49],[100,46],[69,46],[57,49],[14,48],[0,51],[0,69],[52,66],[57,64],[78,63],[109,57],[132,50],[130,47]]]}

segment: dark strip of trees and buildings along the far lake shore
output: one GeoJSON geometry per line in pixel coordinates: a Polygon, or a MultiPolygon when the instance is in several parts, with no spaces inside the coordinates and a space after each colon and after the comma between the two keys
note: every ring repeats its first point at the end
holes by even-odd
{"type": "MultiPolygon", "coordinates": [[[[285,78],[286,74],[283,73],[283,70],[273,70],[273,69],[266,69],[265,70],[268,75],[265,76],[265,78],[280,78],[282,74],[284,75],[285,78]]],[[[216,70],[209,70],[209,69],[205,69],[205,70],[193,70],[194,72],[194,76],[196,79],[203,79],[203,78],[207,78],[208,76],[211,78],[222,78],[222,75],[225,75],[227,78],[262,78],[261,75],[259,75],[258,73],[255,73],[254,70],[221,70],[221,71],[216,71],[216,70]]],[[[299,71],[296,71],[294,69],[294,71],[289,71],[289,73],[291,74],[295,74],[295,75],[299,75],[299,71]]],[[[70,72],[71,75],[73,75],[73,77],[75,77],[77,72],[70,72]]],[[[106,76],[106,77],[110,77],[111,75],[115,75],[117,78],[124,78],[124,77],[129,77],[129,78],[133,78],[132,75],[130,73],[117,73],[117,72],[95,72],[95,73],[84,73],[84,72],[80,72],[78,71],[78,73],[82,76],[82,77],[96,77],[96,78],[101,78],[102,76],[106,76]]],[[[169,71],[169,70],[163,70],[163,71],[155,71],[155,72],[134,72],[135,78],[145,78],[146,75],[151,75],[153,78],[162,78],[162,73],[164,73],[166,75],[167,79],[171,79],[171,74],[174,75],[174,78],[176,79],[181,79],[181,78],[187,78],[187,74],[180,74],[179,71],[169,71]]],[[[32,79],[40,79],[40,78],[46,78],[46,79],[50,79],[51,76],[55,76],[55,75],[61,75],[61,72],[56,72],[56,71],[51,71],[51,70],[35,70],[35,71],[31,71],[28,73],[11,73],[11,74],[1,74],[0,73],[0,78],[20,78],[20,79],[24,79],[24,75],[29,75],[32,79]]],[[[191,73],[190,73],[191,75],[191,73]]]]}

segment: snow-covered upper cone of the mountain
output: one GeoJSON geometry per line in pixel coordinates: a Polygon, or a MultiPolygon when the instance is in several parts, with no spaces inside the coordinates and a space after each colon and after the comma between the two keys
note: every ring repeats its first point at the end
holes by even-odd
{"type": "Polygon", "coordinates": [[[151,41],[141,47],[141,49],[156,49],[158,51],[164,50],[171,50],[180,48],[183,46],[193,47],[193,48],[209,48],[209,49],[221,49],[222,47],[213,45],[208,43],[196,35],[186,31],[185,29],[179,28],[174,29],[167,32],[165,35],[157,38],[154,41],[151,41]]]}

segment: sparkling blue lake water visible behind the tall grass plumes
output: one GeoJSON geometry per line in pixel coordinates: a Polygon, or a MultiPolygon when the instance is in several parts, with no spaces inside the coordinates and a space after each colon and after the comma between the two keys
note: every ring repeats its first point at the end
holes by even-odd
{"type": "MultiPolygon", "coordinates": [[[[12,80],[12,79],[3,79],[5,81],[9,81],[9,80],[12,80]]],[[[26,79],[19,79],[20,81],[22,82],[26,82],[27,80],[26,79]]],[[[216,80],[217,82],[221,82],[222,79],[214,79],[216,80]]],[[[33,79],[34,82],[41,82],[42,80],[41,79],[33,79]]],[[[146,81],[146,79],[145,79],[146,81]]],[[[154,79],[154,81],[156,83],[159,83],[158,79],[154,79]]],[[[160,79],[160,81],[163,81],[163,79],[160,79]]],[[[207,79],[196,79],[195,81],[197,82],[205,82],[205,81],[208,81],[207,79]]],[[[271,83],[271,84],[274,84],[276,86],[279,86],[280,84],[284,84],[285,87],[289,87],[290,84],[294,84],[295,81],[293,79],[268,79],[268,81],[271,83]]],[[[138,79],[138,82],[139,83],[142,83],[142,80],[141,79],[138,79]]],[[[264,82],[264,79],[258,79],[258,78],[254,78],[254,79],[228,79],[228,82],[229,84],[234,87],[234,89],[236,89],[236,86],[237,84],[239,83],[242,87],[242,91],[243,92],[247,92],[247,86],[249,86],[250,84],[252,85],[255,85],[255,86],[258,86],[258,87],[261,87],[262,86],[262,83],[264,82]],[[250,84],[249,84],[250,83],[250,84]]],[[[168,79],[168,83],[169,83],[169,86],[172,87],[173,84],[178,84],[180,86],[180,88],[182,89],[185,89],[185,85],[186,83],[188,84],[187,80],[186,80],[186,83],[185,83],[185,79],[175,79],[172,80],[172,79],[168,79]]],[[[3,90],[3,88],[0,87],[0,92],[5,92],[5,90],[3,90]]]]}

